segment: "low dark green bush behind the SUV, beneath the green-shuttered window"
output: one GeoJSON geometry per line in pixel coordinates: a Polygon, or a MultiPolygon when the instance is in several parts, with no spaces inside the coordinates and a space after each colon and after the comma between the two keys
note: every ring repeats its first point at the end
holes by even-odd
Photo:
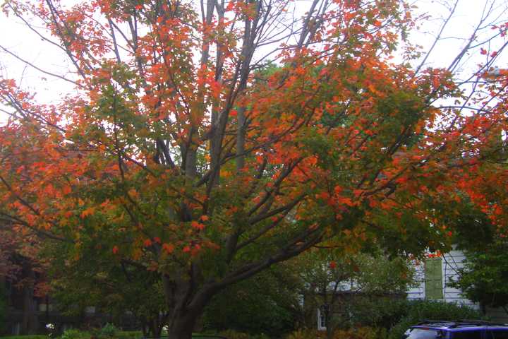
{"type": "Polygon", "coordinates": [[[425,320],[483,319],[479,311],[465,305],[430,300],[409,302],[408,314],[389,331],[389,339],[402,338],[404,332],[414,324],[425,320]]]}

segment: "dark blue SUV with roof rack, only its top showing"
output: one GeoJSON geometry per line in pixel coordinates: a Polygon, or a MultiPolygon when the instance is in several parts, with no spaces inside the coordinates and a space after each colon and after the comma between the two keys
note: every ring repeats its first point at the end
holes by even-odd
{"type": "Polygon", "coordinates": [[[508,339],[508,324],[488,321],[423,321],[411,326],[403,339],[508,339]]]}

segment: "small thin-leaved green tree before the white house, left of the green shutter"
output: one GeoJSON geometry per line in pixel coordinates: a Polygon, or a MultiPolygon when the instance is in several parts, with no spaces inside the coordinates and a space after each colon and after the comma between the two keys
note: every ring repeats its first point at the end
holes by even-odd
{"type": "Polygon", "coordinates": [[[414,283],[414,270],[404,258],[387,258],[377,254],[349,254],[337,258],[333,254],[309,253],[298,258],[303,266],[304,299],[310,316],[320,307],[325,319],[327,338],[333,338],[337,328],[367,323],[380,325],[382,312],[369,319],[374,304],[383,304],[388,297],[396,303],[414,283]],[[367,312],[362,312],[366,308],[367,312]],[[376,316],[378,319],[376,319],[376,316]]]}

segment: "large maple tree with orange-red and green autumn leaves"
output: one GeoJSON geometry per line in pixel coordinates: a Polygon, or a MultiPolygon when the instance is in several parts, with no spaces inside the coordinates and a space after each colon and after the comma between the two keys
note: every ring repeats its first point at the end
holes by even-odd
{"type": "Polygon", "coordinates": [[[508,83],[492,66],[508,25],[488,10],[452,64],[430,69],[407,62],[409,44],[392,59],[415,24],[401,0],[313,0],[296,19],[285,0],[3,8],[73,71],[30,66],[78,94],[43,105],[0,80],[1,219],[66,242],[70,265],[95,248],[159,274],[169,338],[190,338],[220,290],[318,243],[441,248],[449,201],[504,232],[508,83]],[[469,52],[485,60],[456,81],[469,52]]]}

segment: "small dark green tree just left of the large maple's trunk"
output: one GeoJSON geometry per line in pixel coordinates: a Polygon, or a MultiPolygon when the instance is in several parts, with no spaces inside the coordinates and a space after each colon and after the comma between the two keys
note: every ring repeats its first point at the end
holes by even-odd
{"type": "MultiPolygon", "coordinates": [[[[140,323],[143,335],[159,338],[167,323],[162,282],[157,273],[136,270],[111,261],[107,249],[93,247],[77,260],[68,260],[68,246],[59,244],[46,251],[53,258],[49,264],[52,297],[61,311],[78,316],[86,307],[96,307],[99,313],[123,316],[130,311],[140,323]],[[90,261],[88,258],[93,257],[90,261]]],[[[85,253],[85,249],[82,249],[85,253]]]]}

